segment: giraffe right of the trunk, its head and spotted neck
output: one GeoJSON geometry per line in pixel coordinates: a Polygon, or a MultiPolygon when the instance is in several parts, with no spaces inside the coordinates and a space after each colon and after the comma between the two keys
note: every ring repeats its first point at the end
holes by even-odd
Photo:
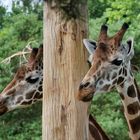
{"type": "Polygon", "coordinates": [[[129,137],[140,140],[140,91],[130,62],[134,55],[133,38],[121,43],[128,27],[124,23],[113,37],[108,37],[108,27],[102,25],[97,42],[83,40],[90,53],[89,61],[92,66],[79,85],[77,98],[89,102],[95,94],[116,88],[124,106],[129,137]]]}

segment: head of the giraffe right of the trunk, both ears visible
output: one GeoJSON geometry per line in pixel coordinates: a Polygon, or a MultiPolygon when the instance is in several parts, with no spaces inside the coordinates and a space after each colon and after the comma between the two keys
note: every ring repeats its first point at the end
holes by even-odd
{"type": "Polygon", "coordinates": [[[124,23],[113,37],[108,37],[107,26],[103,25],[97,42],[83,40],[90,53],[91,68],[79,86],[79,100],[90,101],[94,94],[111,91],[124,82],[134,55],[133,39],[121,43],[127,28],[124,23]]]}

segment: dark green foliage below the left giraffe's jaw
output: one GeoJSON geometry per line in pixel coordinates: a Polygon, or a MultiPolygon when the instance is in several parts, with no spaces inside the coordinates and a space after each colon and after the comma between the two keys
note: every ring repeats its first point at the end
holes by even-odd
{"type": "Polygon", "coordinates": [[[0,140],[41,140],[41,103],[0,117],[0,140]]]}

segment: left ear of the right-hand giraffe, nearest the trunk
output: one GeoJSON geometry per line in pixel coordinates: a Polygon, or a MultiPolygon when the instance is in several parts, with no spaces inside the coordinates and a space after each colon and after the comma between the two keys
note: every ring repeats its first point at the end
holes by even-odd
{"type": "Polygon", "coordinates": [[[90,55],[93,55],[94,51],[96,50],[96,41],[89,40],[89,39],[83,39],[84,46],[88,50],[90,55]]]}

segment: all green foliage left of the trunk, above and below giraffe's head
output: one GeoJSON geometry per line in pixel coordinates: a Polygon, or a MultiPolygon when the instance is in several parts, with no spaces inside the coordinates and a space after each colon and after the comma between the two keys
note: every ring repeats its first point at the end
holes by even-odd
{"type": "MultiPolygon", "coordinates": [[[[20,0],[19,0],[20,1],[20,0]]],[[[29,1],[28,1],[29,2],[29,1]]],[[[41,3],[26,3],[26,6],[13,2],[12,12],[0,7],[0,62],[29,42],[38,47],[43,39],[43,9],[41,3]]],[[[0,90],[12,79],[19,67],[19,59],[13,58],[6,65],[0,63],[0,90]]],[[[0,140],[40,140],[41,103],[30,108],[16,110],[0,117],[0,140]]]]}

